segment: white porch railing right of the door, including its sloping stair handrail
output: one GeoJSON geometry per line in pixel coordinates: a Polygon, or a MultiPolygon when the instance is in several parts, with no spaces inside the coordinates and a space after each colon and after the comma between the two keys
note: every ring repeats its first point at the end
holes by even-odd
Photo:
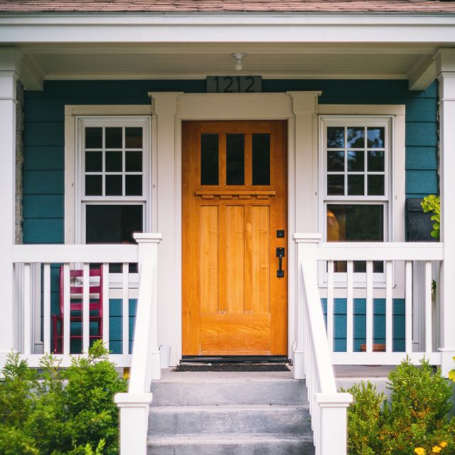
{"type": "Polygon", "coordinates": [[[294,377],[309,391],[316,454],[346,454],[346,394],[333,364],[441,364],[441,243],[320,243],[296,234],[294,377]],[[325,307],[325,311],[323,311],[325,307]]]}

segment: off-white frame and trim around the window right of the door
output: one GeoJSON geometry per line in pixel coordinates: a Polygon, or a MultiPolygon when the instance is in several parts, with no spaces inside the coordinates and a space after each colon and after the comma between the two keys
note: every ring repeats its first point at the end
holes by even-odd
{"type": "MultiPolygon", "coordinates": [[[[384,204],[384,242],[404,241],[405,207],[405,107],[398,106],[320,106],[319,113],[319,232],[327,240],[327,205],[384,204]],[[321,112],[322,111],[322,112],[321,112]],[[385,127],[385,195],[327,195],[327,127],[385,127]],[[400,221],[402,220],[402,221],[400,221]]],[[[346,147],[347,149],[347,147],[346,147]]],[[[365,149],[366,150],[366,149],[365,149]]],[[[366,164],[365,164],[366,168],[366,164]]],[[[345,168],[343,174],[348,170],[345,168]]],[[[364,174],[365,175],[365,174],[364,174]]],[[[346,181],[345,181],[346,183],[346,181]]],[[[346,191],[345,191],[346,193],[346,191]]],[[[333,242],[336,243],[336,242],[333,242]]],[[[319,287],[327,287],[325,263],[319,262],[319,287]]],[[[395,273],[393,274],[395,277],[395,273]]],[[[346,272],[335,272],[334,287],[346,287],[346,272]]],[[[395,277],[397,280],[397,277],[395,277]]],[[[353,274],[354,287],[365,287],[365,272],[353,274]]],[[[373,274],[375,287],[385,286],[385,271],[373,274]]]]}

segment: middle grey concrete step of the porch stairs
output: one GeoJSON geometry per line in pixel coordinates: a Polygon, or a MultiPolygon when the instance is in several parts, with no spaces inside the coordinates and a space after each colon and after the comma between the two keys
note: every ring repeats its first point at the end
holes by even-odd
{"type": "Polygon", "coordinates": [[[151,407],[149,435],[280,433],[311,436],[307,405],[151,407]]]}

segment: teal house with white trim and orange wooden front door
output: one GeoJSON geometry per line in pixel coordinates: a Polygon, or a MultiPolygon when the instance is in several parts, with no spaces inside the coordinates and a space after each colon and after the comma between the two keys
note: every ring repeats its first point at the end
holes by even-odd
{"type": "Polygon", "coordinates": [[[291,358],[321,454],[332,364],[453,367],[454,2],[0,0],[0,119],[0,355],[36,365],[63,293],[68,362],[102,264],[132,453],[159,344],[291,358]],[[431,193],[440,242],[406,242],[431,193]]]}

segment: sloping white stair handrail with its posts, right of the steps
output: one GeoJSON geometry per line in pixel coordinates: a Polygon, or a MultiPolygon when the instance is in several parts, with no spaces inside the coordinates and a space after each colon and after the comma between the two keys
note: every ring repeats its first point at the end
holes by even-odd
{"type": "Polygon", "coordinates": [[[348,393],[336,392],[316,279],[319,238],[295,239],[299,275],[294,378],[306,380],[316,455],[346,455],[346,408],[352,397],[348,393]]]}

